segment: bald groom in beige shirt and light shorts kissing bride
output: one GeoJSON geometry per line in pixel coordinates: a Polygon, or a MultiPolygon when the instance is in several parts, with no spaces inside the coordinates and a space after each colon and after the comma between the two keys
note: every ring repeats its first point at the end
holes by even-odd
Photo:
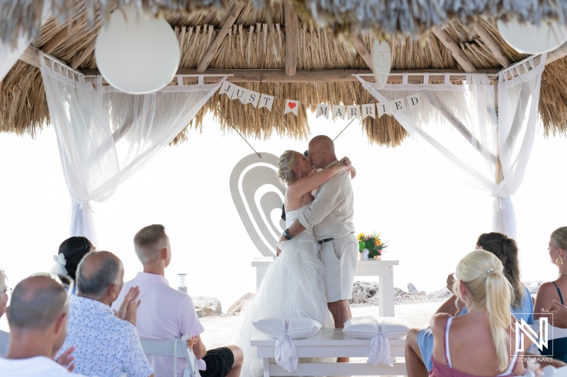
{"type": "MultiPolygon", "coordinates": [[[[308,152],[314,168],[322,169],[339,163],[335,144],[325,135],[311,139],[308,152]]],[[[344,322],[352,317],[348,299],[352,298],[352,283],[359,254],[352,224],[354,196],[350,181],[349,172],[344,171],[322,184],[307,211],[280,237],[280,240],[291,240],[305,228],[313,226],[315,237],[321,244],[321,260],[325,266],[327,306],[337,328],[344,327],[344,322]]]]}

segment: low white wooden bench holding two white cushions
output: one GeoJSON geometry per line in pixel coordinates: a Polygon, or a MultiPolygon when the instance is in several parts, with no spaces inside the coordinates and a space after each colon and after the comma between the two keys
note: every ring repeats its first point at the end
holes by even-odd
{"type": "MultiPolygon", "coordinates": [[[[342,329],[321,329],[317,334],[294,339],[298,357],[368,357],[369,339],[349,337],[342,329]]],[[[269,376],[400,376],[407,375],[405,362],[394,362],[394,366],[371,366],[366,362],[349,363],[298,363],[297,371],[291,373],[274,361],[276,339],[255,332],[251,341],[257,347],[258,357],[264,359],[264,377],[269,376]]],[[[391,356],[404,356],[405,337],[390,340],[391,356]]]]}

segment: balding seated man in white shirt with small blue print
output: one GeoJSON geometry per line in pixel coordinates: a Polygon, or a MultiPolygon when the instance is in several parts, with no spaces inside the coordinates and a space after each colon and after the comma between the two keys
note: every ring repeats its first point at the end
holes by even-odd
{"type": "Polygon", "coordinates": [[[79,263],[77,295],[69,299],[63,344],[63,349],[75,347],[77,373],[105,377],[152,375],[134,325],[136,289],[128,291],[125,305],[116,315],[110,307],[120,294],[123,278],[122,262],[108,251],[88,253],[79,263]]]}

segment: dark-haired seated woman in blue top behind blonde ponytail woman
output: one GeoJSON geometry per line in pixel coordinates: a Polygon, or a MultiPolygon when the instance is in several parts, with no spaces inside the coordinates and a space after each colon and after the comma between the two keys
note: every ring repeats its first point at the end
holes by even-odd
{"type": "MultiPolygon", "coordinates": [[[[503,233],[483,233],[476,241],[476,248],[493,253],[504,266],[504,275],[512,286],[512,305],[510,312],[529,325],[534,323],[534,302],[522,282],[520,282],[520,262],[518,260],[518,247],[515,240],[503,233]]],[[[447,287],[451,289],[454,277],[449,275],[447,287]]],[[[458,301],[455,295],[451,296],[437,313],[447,313],[461,316],[466,314],[464,303],[458,301]]],[[[408,377],[427,376],[432,369],[431,356],[433,352],[433,334],[430,328],[412,328],[405,340],[405,364],[408,368],[408,377]]]]}

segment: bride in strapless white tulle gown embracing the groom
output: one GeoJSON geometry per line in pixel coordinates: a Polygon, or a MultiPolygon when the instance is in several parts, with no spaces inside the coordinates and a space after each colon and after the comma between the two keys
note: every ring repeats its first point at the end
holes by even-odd
{"type": "MultiPolygon", "coordinates": [[[[285,151],[277,167],[278,177],[287,184],[284,203],[287,226],[308,209],[313,202],[313,190],[343,171],[348,170],[354,176],[348,158],[312,173],[309,158],[296,151],[285,151]]],[[[258,377],[264,372],[262,359],[255,357],[256,350],[250,346],[254,332],[252,322],[277,315],[312,318],[323,327],[334,327],[325,298],[323,265],[318,256],[320,245],[313,229],[305,229],[293,239],[279,243],[278,247],[279,257],[269,265],[256,296],[240,314],[237,344],[244,352],[241,377],[258,377]]]]}

